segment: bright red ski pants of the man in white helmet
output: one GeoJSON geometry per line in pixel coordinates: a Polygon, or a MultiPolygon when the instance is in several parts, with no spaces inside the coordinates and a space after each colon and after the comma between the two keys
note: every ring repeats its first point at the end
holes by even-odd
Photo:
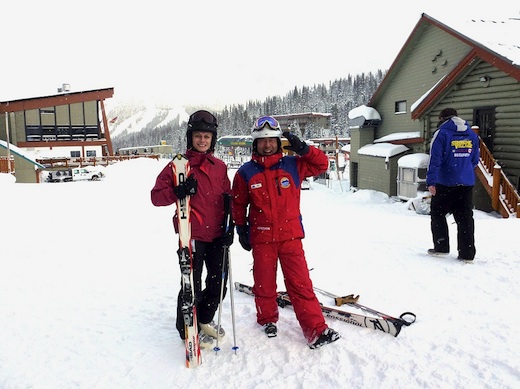
{"type": "Polygon", "coordinates": [[[278,321],[276,270],[278,259],[303,335],[313,342],[327,328],[316,298],[301,239],[253,245],[256,317],[260,325],[278,321]]]}

